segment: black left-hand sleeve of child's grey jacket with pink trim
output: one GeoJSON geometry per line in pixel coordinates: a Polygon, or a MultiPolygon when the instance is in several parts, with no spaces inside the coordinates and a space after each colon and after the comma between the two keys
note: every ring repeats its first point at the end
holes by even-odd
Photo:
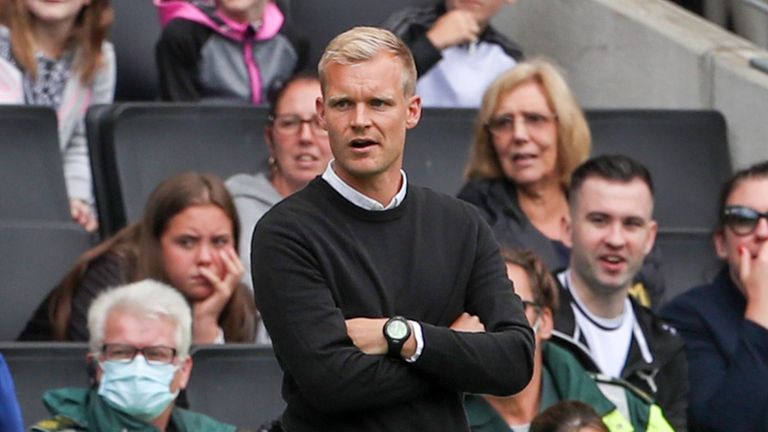
{"type": "Polygon", "coordinates": [[[155,46],[160,97],[171,102],[196,102],[201,98],[197,85],[198,63],[205,30],[192,22],[175,19],[160,35],[155,46]]]}

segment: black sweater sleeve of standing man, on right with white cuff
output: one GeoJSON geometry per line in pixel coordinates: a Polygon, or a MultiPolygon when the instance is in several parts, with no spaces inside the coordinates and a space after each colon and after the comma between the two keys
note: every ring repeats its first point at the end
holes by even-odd
{"type": "Polygon", "coordinates": [[[436,382],[462,392],[512,395],[528,385],[533,374],[533,331],[490,229],[482,223],[478,228],[465,307],[480,318],[486,332],[457,332],[421,323],[424,352],[414,365],[436,382]]]}

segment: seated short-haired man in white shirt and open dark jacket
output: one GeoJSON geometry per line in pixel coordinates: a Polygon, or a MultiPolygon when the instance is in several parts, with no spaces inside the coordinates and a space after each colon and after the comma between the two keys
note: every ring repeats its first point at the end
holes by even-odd
{"type": "Polygon", "coordinates": [[[598,156],[574,171],[568,198],[572,250],[569,268],[557,275],[562,307],[552,340],[587,369],[634,384],[675,430],[685,430],[683,342],[627,296],[656,238],[650,173],[626,156],[598,156]]]}

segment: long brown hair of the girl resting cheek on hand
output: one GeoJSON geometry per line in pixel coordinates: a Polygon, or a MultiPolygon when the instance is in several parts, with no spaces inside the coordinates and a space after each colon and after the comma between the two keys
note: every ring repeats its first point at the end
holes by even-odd
{"type": "MultiPolygon", "coordinates": [[[[72,299],[81,288],[89,266],[108,255],[125,263],[126,273],[120,276],[125,282],[147,278],[170,283],[165,273],[160,237],[174,216],[189,207],[215,205],[232,222],[232,241],[238,250],[240,220],[232,196],[224,182],[213,174],[185,172],[162,182],[149,196],[144,216],[138,222],[120,230],[113,237],[85,252],[54,290],[49,303],[49,316],[53,324],[53,337],[70,340],[68,333],[72,314],[72,299]]],[[[240,284],[219,316],[224,336],[231,342],[252,341],[255,322],[249,315],[255,314],[250,289],[240,284]]]]}

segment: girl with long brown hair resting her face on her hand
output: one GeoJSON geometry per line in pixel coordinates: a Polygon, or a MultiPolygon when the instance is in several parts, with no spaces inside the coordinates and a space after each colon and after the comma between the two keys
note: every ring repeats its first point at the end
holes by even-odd
{"type": "Polygon", "coordinates": [[[251,342],[256,311],[240,282],[240,231],[223,182],[187,172],[161,183],[144,216],[86,252],[35,312],[21,340],[88,340],[86,311],[108,287],[145,278],[173,286],[193,313],[193,342],[251,342]]]}

